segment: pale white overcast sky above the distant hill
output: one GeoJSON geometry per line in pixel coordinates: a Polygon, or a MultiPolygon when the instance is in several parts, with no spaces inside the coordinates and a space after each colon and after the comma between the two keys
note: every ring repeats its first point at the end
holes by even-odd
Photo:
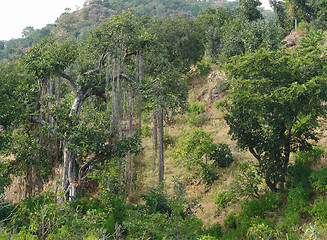
{"type": "MultiPolygon", "coordinates": [[[[25,27],[40,29],[55,23],[66,8],[82,8],[85,0],[2,0],[0,7],[0,40],[21,38],[25,27]]],[[[269,0],[261,0],[269,8],[269,0]]]]}

